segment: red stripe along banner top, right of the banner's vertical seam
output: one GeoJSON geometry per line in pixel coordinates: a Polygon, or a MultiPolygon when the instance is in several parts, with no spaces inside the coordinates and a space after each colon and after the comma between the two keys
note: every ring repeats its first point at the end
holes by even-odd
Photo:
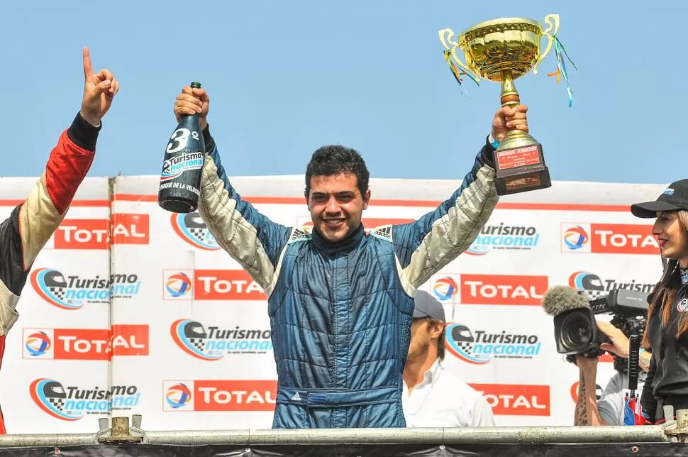
{"type": "MultiPolygon", "coordinates": [[[[304,204],[301,197],[242,197],[251,203],[304,204]]],[[[116,194],[116,202],[157,202],[157,195],[116,194]]],[[[437,207],[441,202],[434,200],[392,200],[371,199],[374,207],[437,207]]],[[[540,209],[550,211],[631,211],[630,205],[623,204],[575,204],[575,203],[509,203],[497,204],[498,209],[540,209]]]]}

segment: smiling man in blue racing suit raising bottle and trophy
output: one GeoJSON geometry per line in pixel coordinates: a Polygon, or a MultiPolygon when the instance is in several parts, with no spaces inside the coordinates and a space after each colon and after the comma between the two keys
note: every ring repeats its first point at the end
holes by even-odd
{"type": "Polygon", "coordinates": [[[475,240],[497,202],[492,152],[526,106],[496,111],[492,133],[454,194],[410,224],[367,235],[368,170],[340,145],[306,168],[312,233],[276,224],[228,181],[211,137],[204,89],[184,87],[177,120],[199,114],[206,143],[199,212],[268,297],[277,399],[273,428],[404,427],[401,373],[416,289],[475,240]]]}

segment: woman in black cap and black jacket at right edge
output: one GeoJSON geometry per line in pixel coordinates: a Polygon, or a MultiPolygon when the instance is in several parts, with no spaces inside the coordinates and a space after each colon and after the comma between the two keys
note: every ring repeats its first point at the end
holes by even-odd
{"type": "Polygon", "coordinates": [[[652,349],[641,403],[650,422],[663,407],[688,409],[688,180],[672,183],[655,202],[631,205],[634,216],[656,218],[653,235],[668,260],[650,295],[643,348],[652,349]]]}

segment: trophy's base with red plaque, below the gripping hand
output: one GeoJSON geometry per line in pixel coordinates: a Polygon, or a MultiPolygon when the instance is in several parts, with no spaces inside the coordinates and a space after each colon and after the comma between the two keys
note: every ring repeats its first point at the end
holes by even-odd
{"type": "Polygon", "coordinates": [[[512,130],[494,151],[497,195],[551,187],[543,146],[523,131],[512,130]]]}

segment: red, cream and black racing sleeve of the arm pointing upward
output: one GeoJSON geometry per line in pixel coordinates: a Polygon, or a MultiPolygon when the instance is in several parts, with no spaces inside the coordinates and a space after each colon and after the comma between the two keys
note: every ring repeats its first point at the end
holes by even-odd
{"type": "MultiPolygon", "coordinates": [[[[86,177],[101,126],[91,126],[77,114],[72,126],[62,132],[27,199],[0,223],[0,364],[5,336],[17,320],[16,304],[31,265],[64,219],[86,177]]],[[[0,434],[4,433],[0,412],[0,434]]]]}

